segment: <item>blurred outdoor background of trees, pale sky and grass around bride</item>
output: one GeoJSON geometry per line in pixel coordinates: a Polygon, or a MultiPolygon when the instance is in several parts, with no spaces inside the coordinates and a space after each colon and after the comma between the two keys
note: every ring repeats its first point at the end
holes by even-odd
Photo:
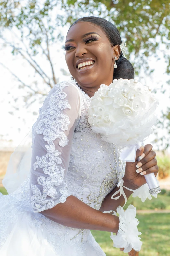
{"type": "MultiPolygon", "coordinates": [[[[112,22],[126,42],[135,78],[152,88],[160,104],[147,143],[157,152],[162,192],[138,209],[143,247],[140,256],[170,255],[170,3],[169,0],[0,0],[0,192],[11,153],[30,131],[45,96],[70,73],[62,45],[78,18],[98,16],[112,22]]],[[[127,204],[127,206],[128,206],[127,204]]],[[[110,233],[92,230],[107,256],[110,233]]]]}

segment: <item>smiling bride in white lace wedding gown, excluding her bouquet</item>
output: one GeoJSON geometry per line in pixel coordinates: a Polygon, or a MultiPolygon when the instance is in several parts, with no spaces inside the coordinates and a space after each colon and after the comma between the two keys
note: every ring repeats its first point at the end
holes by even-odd
{"type": "Polygon", "coordinates": [[[90,230],[117,233],[119,217],[103,212],[125,202],[111,199],[120,174],[133,190],[146,183],[144,174],[157,175],[152,145],[141,146],[135,163],[125,165],[117,146],[87,122],[90,98],[102,83],[134,78],[121,44],[117,28],[103,18],[83,17],[70,26],[63,48],[71,79],[56,84],[40,108],[29,175],[0,195],[1,256],[106,256],[90,230]]]}

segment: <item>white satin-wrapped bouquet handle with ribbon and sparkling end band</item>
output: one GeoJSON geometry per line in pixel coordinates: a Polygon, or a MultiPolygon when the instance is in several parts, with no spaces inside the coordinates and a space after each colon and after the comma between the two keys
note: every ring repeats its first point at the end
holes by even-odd
{"type": "MultiPolygon", "coordinates": [[[[135,145],[126,146],[123,149],[122,153],[120,154],[119,159],[123,160],[123,161],[127,161],[127,162],[135,162],[136,150],[139,149],[140,146],[143,146],[143,145],[144,145],[144,143],[142,142],[142,143],[138,143],[135,145]]],[[[138,161],[140,161],[140,159],[138,159],[138,161]]],[[[158,181],[157,181],[154,173],[145,174],[144,177],[148,184],[150,194],[158,194],[159,192],[161,192],[161,188],[158,184],[158,181]]]]}

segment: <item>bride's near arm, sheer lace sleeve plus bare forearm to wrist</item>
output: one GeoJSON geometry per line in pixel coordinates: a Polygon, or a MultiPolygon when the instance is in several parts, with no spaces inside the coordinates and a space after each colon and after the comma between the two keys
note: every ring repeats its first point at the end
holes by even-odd
{"type": "Polygon", "coordinates": [[[33,127],[31,205],[34,212],[68,227],[117,232],[117,216],[97,211],[72,196],[65,181],[71,142],[81,114],[77,90],[73,85],[56,85],[33,127]]]}

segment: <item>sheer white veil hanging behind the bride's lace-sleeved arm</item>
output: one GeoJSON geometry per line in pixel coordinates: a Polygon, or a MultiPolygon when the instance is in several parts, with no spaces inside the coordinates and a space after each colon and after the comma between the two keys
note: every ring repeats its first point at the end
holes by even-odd
{"type": "Polygon", "coordinates": [[[10,156],[7,171],[2,180],[3,186],[10,194],[14,192],[29,175],[32,156],[32,130],[25,136],[10,156]]]}

